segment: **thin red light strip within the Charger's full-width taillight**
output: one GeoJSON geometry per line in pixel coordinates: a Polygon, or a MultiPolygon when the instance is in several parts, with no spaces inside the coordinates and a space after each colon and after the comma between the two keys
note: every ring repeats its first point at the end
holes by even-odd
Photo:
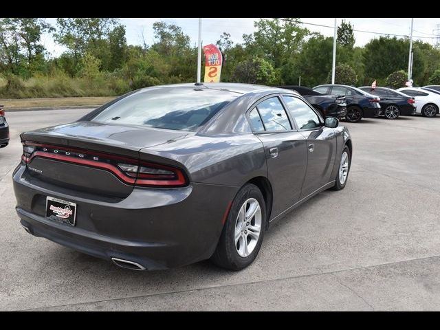
{"type": "Polygon", "coordinates": [[[89,159],[69,157],[65,155],[56,155],[53,153],[46,153],[44,151],[36,151],[32,154],[31,157],[25,157],[25,155],[22,155],[21,159],[23,159],[24,162],[29,164],[30,162],[32,162],[32,159],[36,157],[56,159],[56,160],[61,160],[63,162],[69,162],[73,164],[85,165],[89,167],[100,168],[102,170],[107,170],[112,174],[114,174],[116,177],[118,177],[125,184],[136,184],[142,186],[183,186],[184,184],[186,184],[186,179],[183,173],[181,173],[181,170],[178,170],[177,168],[173,168],[173,172],[176,173],[177,175],[177,179],[175,180],[136,179],[135,177],[126,176],[118,167],[113,166],[111,164],[95,162],[89,159]]]}

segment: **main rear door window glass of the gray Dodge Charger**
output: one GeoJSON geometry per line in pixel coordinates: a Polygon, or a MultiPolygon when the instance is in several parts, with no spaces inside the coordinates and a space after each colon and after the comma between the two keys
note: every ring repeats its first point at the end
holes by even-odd
{"type": "Polygon", "coordinates": [[[267,98],[256,106],[261,119],[263,120],[266,131],[290,131],[289,118],[277,97],[267,98]]]}

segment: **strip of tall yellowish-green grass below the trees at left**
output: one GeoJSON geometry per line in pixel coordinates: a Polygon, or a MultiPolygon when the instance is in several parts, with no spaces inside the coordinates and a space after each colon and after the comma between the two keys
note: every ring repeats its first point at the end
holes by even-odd
{"type": "Polygon", "coordinates": [[[23,80],[17,76],[0,79],[0,98],[62,98],[118,96],[129,91],[129,82],[112,74],[94,78],[72,78],[61,72],[23,80]]]}

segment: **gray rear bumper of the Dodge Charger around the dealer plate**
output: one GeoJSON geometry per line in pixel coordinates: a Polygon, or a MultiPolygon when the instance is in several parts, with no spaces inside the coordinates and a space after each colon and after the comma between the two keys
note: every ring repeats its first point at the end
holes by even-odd
{"type": "Polygon", "coordinates": [[[135,188],[126,199],[108,203],[41,188],[23,165],[13,179],[17,214],[31,234],[98,258],[137,263],[146,270],[210,258],[237,190],[195,183],[162,190],[135,188]],[[45,217],[47,196],[77,204],[75,226],[45,217]]]}

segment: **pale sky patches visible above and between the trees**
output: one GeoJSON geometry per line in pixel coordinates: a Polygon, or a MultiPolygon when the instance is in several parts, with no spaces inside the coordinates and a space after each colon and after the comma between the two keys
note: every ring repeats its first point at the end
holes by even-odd
{"type": "MultiPolygon", "coordinates": [[[[243,39],[241,36],[243,34],[249,34],[254,31],[254,21],[258,19],[252,18],[203,18],[202,19],[202,40],[203,44],[215,43],[221,33],[228,32],[231,34],[231,38],[234,43],[241,43],[243,39]]],[[[305,23],[314,23],[320,25],[330,25],[333,26],[333,18],[301,18],[301,21],[305,23]]],[[[338,24],[342,19],[338,18],[338,24]]],[[[397,19],[386,19],[386,18],[370,18],[370,19],[359,19],[359,18],[345,18],[354,25],[355,30],[364,30],[371,32],[381,32],[388,34],[404,34],[408,35],[410,32],[410,21],[411,19],[397,18],[397,19]]],[[[47,19],[49,23],[56,25],[56,19],[47,19]]],[[[153,36],[153,23],[155,21],[164,21],[166,23],[173,23],[179,25],[184,33],[188,34],[191,39],[192,45],[197,44],[197,34],[198,34],[198,19],[197,18],[123,18],[120,22],[126,27],[126,39],[127,43],[130,45],[140,45],[142,44],[142,32],[144,33],[144,38],[146,43],[151,44],[154,42],[153,36]]],[[[437,24],[440,24],[440,19],[414,19],[414,36],[420,36],[423,41],[429,43],[434,43],[434,29],[437,28],[437,24]]],[[[311,31],[320,32],[325,36],[333,36],[333,28],[325,28],[315,25],[303,25],[311,31]]],[[[365,32],[355,32],[356,45],[362,46],[368,43],[371,39],[377,38],[380,35],[370,34],[365,32]]],[[[52,54],[52,56],[60,55],[65,48],[56,45],[52,36],[43,36],[43,43],[47,50],[52,54]]]]}

